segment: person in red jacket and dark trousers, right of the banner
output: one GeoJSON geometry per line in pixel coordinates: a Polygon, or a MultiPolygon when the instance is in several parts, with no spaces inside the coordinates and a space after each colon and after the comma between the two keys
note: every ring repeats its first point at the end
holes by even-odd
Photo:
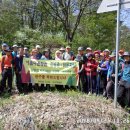
{"type": "Polygon", "coordinates": [[[86,81],[87,81],[87,90],[88,93],[96,92],[96,75],[97,75],[97,64],[93,59],[93,54],[87,54],[87,61],[84,65],[86,81]]]}

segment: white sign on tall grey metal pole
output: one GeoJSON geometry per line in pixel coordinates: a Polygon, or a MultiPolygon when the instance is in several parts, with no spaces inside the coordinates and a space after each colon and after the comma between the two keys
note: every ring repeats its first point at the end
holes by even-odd
{"type": "Polygon", "coordinates": [[[117,30],[116,30],[116,72],[115,72],[115,92],[114,107],[117,107],[117,87],[118,87],[118,51],[120,44],[120,10],[130,8],[130,0],[103,0],[97,13],[117,11],[117,30]]]}

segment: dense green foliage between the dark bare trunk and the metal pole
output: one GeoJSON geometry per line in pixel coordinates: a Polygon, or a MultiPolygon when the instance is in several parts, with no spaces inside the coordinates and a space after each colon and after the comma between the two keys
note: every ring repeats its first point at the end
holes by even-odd
{"type": "Polygon", "coordinates": [[[78,45],[94,49],[114,48],[116,33],[115,14],[96,14],[84,16],[75,39],[78,45]]]}

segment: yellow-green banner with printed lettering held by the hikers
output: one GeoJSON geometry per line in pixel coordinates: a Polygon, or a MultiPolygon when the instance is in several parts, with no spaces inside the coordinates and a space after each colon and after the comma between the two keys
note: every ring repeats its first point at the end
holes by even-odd
{"type": "Polygon", "coordinates": [[[22,67],[23,83],[78,85],[76,61],[34,60],[25,58],[22,67]]]}

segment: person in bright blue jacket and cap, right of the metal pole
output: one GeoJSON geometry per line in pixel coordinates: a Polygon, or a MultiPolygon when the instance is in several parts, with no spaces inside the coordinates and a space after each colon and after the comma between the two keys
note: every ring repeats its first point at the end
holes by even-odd
{"type": "Polygon", "coordinates": [[[125,52],[123,57],[125,63],[122,65],[122,73],[120,73],[117,100],[122,107],[125,107],[126,102],[130,106],[130,53],[125,52]]]}

